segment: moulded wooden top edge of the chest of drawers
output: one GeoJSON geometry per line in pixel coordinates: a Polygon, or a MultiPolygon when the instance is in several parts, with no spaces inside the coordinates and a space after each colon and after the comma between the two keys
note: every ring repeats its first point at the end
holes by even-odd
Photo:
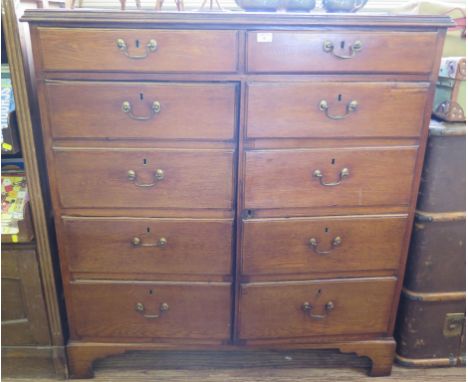
{"type": "Polygon", "coordinates": [[[30,9],[22,21],[54,26],[135,26],[174,28],[252,28],[252,27],[449,27],[448,16],[391,15],[361,12],[330,13],[249,13],[157,12],[91,9],[30,9]]]}

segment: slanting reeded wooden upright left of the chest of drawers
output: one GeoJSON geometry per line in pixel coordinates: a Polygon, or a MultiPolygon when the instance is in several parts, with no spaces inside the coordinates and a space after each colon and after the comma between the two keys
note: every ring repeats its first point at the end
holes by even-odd
{"type": "MultiPolygon", "coordinates": [[[[45,302],[45,315],[48,328],[41,327],[38,323],[35,330],[43,331],[41,336],[48,336],[49,342],[55,349],[63,352],[64,338],[62,333],[63,316],[61,302],[58,295],[60,288],[56,280],[57,254],[53,241],[53,222],[49,211],[49,201],[46,196],[47,179],[42,168],[43,162],[39,155],[38,144],[39,122],[36,119],[37,109],[34,107],[35,95],[34,85],[31,81],[32,52],[29,49],[28,28],[18,22],[19,14],[16,13],[18,3],[13,0],[2,1],[2,34],[5,37],[6,53],[11,70],[11,80],[15,93],[16,117],[18,119],[18,130],[21,141],[21,153],[26,170],[28,194],[30,198],[31,215],[34,226],[36,242],[37,268],[40,274],[40,289],[34,293],[43,293],[45,302]],[[58,290],[57,290],[58,289],[58,290]]],[[[34,4],[34,7],[38,6],[34,4]]],[[[31,282],[34,283],[33,280],[31,282]]],[[[36,303],[39,305],[39,298],[36,303]]],[[[58,351],[59,352],[59,351],[58,351]]],[[[51,352],[49,352],[50,355],[51,352]]],[[[47,358],[47,356],[45,357],[47,358]]],[[[52,355],[54,367],[58,374],[64,373],[64,359],[52,355]]]]}

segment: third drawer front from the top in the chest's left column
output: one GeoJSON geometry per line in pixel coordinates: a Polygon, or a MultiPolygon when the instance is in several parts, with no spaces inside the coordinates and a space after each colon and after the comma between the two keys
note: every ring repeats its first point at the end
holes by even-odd
{"type": "Polygon", "coordinates": [[[57,149],[54,166],[64,208],[233,204],[232,150],[57,149]]]}

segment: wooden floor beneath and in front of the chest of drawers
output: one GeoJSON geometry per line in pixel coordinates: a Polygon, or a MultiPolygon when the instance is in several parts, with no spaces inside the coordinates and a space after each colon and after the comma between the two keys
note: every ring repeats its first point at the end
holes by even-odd
{"type": "MultiPolygon", "coordinates": [[[[96,382],[462,382],[465,368],[408,369],[367,378],[369,360],[334,350],[132,352],[96,362],[96,382]]],[[[5,382],[54,382],[56,379],[2,378],[5,382]]]]}

